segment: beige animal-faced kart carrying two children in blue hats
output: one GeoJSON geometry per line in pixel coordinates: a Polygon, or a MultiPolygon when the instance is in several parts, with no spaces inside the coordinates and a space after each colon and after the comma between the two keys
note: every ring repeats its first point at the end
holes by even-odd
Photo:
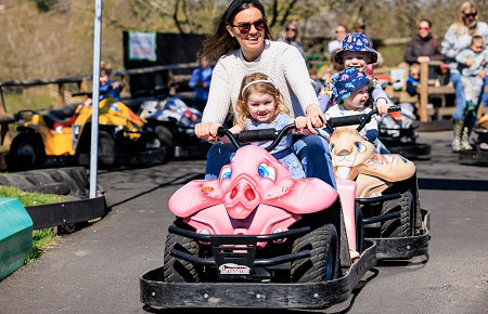
{"type": "Polygon", "coordinates": [[[359,134],[375,114],[373,109],[329,119],[334,174],[357,183],[356,204],[362,211],[365,238],[377,245],[376,258],[428,260],[429,214],[420,208],[415,166],[401,155],[375,154],[374,145],[359,134]],[[356,125],[356,130],[338,129],[356,125]]]}

